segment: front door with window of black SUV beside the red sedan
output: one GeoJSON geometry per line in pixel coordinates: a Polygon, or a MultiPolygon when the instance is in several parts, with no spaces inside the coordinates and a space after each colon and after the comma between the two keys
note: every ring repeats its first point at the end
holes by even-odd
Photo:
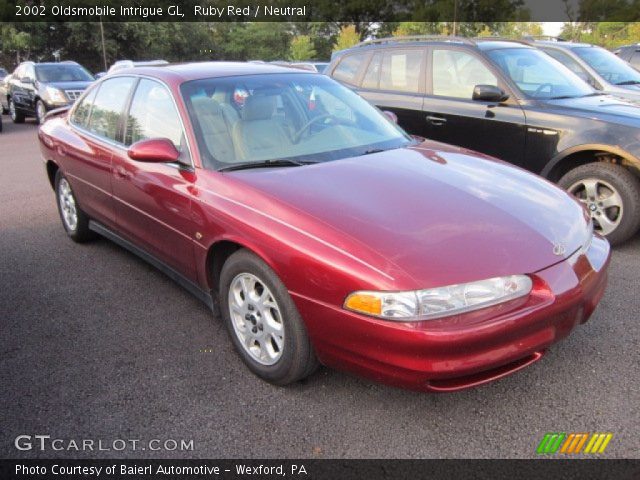
{"type": "Polygon", "coordinates": [[[476,85],[509,91],[491,65],[479,54],[456,46],[434,46],[428,60],[424,136],[522,164],[526,119],[517,100],[472,99],[476,85]]]}

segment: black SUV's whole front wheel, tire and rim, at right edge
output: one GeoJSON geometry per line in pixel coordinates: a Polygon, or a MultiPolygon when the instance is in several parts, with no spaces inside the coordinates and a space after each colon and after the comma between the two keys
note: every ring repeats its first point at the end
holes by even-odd
{"type": "Polygon", "coordinates": [[[640,228],[640,180],[626,168],[588,163],[569,171],[558,184],[587,206],[595,230],[611,245],[629,240],[640,228]]]}

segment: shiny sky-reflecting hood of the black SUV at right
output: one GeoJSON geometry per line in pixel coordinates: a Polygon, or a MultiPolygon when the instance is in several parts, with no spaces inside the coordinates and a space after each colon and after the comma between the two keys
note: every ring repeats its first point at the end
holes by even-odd
{"type": "Polygon", "coordinates": [[[546,100],[551,108],[558,108],[558,113],[574,115],[589,119],[620,123],[632,127],[640,127],[640,96],[635,101],[614,95],[594,95],[591,97],[546,100]]]}

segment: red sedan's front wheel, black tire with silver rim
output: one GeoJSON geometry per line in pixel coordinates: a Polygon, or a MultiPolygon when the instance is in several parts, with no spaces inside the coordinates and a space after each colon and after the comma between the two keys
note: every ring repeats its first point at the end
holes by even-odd
{"type": "Polygon", "coordinates": [[[304,322],[286,287],[248,250],[233,253],[222,267],[220,306],[236,351],[261,379],[288,385],[318,368],[304,322]],[[247,297],[252,300],[247,302],[247,297]]]}

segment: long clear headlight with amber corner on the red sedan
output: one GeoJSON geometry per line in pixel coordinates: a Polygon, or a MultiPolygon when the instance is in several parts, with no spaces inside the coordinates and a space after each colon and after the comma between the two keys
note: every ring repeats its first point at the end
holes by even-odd
{"type": "Polygon", "coordinates": [[[347,297],[344,308],[399,322],[431,320],[523,297],[531,287],[528,276],[510,275],[410,292],[359,291],[347,297]]]}

